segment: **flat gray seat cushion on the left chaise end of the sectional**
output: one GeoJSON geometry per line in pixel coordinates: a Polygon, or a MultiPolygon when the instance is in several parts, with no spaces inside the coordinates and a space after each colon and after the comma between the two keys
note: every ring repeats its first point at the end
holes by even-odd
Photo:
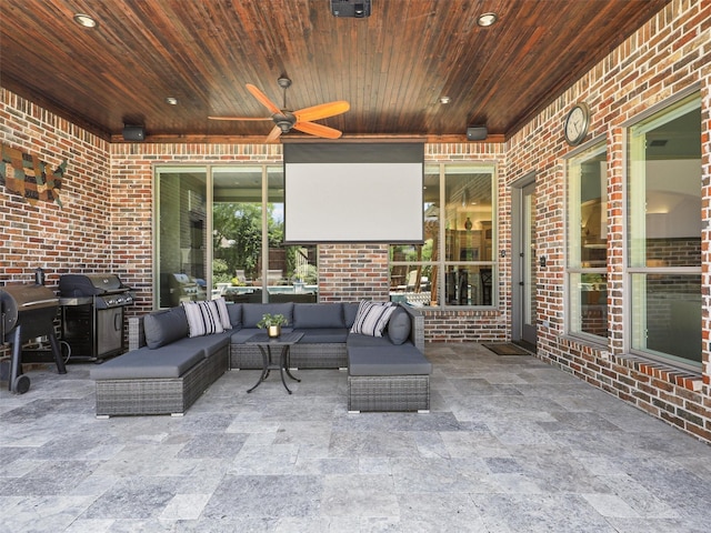
{"type": "Polygon", "coordinates": [[[156,350],[141,348],[91,366],[90,375],[93,380],[180,378],[203,359],[202,350],[179,343],[156,350]]]}

